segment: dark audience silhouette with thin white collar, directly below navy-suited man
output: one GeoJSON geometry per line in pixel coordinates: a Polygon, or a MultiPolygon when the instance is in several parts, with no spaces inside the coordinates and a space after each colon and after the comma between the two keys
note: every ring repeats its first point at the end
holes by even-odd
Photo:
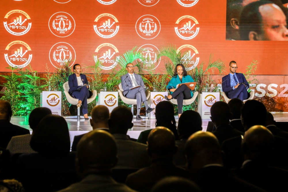
{"type": "Polygon", "coordinates": [[[228,106],[232,113],[232,117],[230,118],[230,125],[238,131],[244,133],[245,130],[241,122],[241,109],[244,106],[243,101],[234,98],[228,102],[228,106]]]}

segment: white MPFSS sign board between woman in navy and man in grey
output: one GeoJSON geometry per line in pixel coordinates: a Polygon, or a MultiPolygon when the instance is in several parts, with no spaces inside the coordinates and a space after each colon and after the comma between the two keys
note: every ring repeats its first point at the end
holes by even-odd
{"type": "Polygon", "coordinates": [[[110,113],[118,106],[118,92],[101,91],[99,96],[99,104],[108,107],[110,113]]]}

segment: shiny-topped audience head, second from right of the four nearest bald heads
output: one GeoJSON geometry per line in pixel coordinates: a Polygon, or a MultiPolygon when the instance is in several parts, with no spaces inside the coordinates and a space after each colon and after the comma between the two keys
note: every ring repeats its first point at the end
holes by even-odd
{"type": "Polygon", "coordinates": [[[197,172],[205,165],[223,165],[220,144],[210,132],[197,131],[189,137],[184,150],[187,159],[187,170],[197,172]]]}

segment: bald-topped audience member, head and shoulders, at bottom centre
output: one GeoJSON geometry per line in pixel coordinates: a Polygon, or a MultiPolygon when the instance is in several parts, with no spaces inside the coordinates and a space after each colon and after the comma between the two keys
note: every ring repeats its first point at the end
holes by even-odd
{"type": "Polygon", "coordinates": [[[166,127],[153,129],[148,136],[147,151],[151,165],[128,175],[126,184],[131,189],[148,192],[156,182],[166,176],[187,177],[185,170],[173,163],[173,154],[177,152],[177,146],[171,130],[166,127]]]}

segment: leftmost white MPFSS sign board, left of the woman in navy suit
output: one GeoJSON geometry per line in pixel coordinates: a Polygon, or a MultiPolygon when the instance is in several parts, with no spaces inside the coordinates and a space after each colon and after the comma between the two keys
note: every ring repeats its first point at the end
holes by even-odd
{"type": "Polygon", "coordinates": [[[61,116],[61,91],[43,91],[42,107],[47,107],[53,115],[61,116]]]}

